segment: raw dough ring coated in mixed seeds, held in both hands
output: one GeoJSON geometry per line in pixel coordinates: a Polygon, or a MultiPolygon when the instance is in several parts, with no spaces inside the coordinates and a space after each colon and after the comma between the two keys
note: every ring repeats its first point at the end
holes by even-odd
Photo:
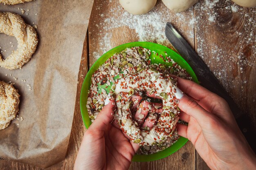
{"type": "Polygon", "coordinates": [[[150,68],[137,73],[128,73],[118,80],[115,88],[118,113],[115,119],[119,120],[121,130],[130,137],[130,140],[142,146],[151,146],[161,144],[171,137],[179,120],[176,88],[177,82],[170,75],[150,68]],[[163,102],[163,111],[159,115],[157,124],[150,130],[140,129],[137,122],[132,119],[131,98],[138,91],[151,91],[151,94],[161,98],[163,102]]]}

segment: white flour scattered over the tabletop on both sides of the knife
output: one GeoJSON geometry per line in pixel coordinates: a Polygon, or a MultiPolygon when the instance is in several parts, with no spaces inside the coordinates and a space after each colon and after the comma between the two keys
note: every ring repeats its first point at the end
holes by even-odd
{"type": "MultiPolygon", "coordinates": [[[[121,27],[124,30],[120,36],[129,36],[126,35],[125,31],[125,28],[129,28],[135,31],[139,41],[156,42],[158,44],[166,45],[168,43],[164,35],[166,22],[171,22],[174,26],[182,24],[181,27],[191,27],[191,31],[186,33],[182,32],[184,31],[183,29],[179,29],[181,34],[184,35],[187,40],[190,40],[190,42],[194,39],[193,30],[195,24],[195,41],[197,43],[196,51],[198,54],[211,68],[214,75],[220,80],[220,82],[222,82],[227,91],[231,92],[233,87],[240,88],[240,93],[243,93],[244,89],[242,87],[247,82],[243,80],[241,81],[240,86],[236,87],[238,82],[230,75],[232,74],[234,67],[237,67],[239,68],[238,77],[243,76],[245,67],[252,67],[255,64],[253,60],[256,54],[255,48],[252,48],[251,57],[247,58],[242,52],[243,49],[239,50],[238,54],[234,54],[231,47],[224,48],[227,47],[225,43],[232,43],[229,42],[231,40],[226,40],[225,36],[223,36],[222,42],[225,45],[222,46],[218,40],[211,39],[213,36],[207,35],[208,29],[211,29],[209,34],[213,33],[212,28],[223,29],[223,33],[225,33],[225,31],[229,33],[229,29],[232,29],[229,28],[229,25],[233,20],[233,16],[235,17],[236,15],[240,15],[239,18],[244,17],[245,22],[242,24],[242,28],[238,29],[238,26],[236,26],[235,28],[238,30],[231,30],[234,31],[234,39],[238,39],[238,43],[234,48],[242,48],[245,44],[248,46],[255,44],[255,26],[253,26],[255,24],[255,18],[250,18],[247,14],[244,15],[243,7],[239,7],[230,0],[200,0],[195,4],[195,9],[192,7],[186,12],[172,13],[169,9],[162,7],[162,2],[157,2],[157,7],[149,13],[144,15],[132,15],[124,11],[121,6],[116,5],[118,2],[109,1],[109,4],[111,3],[114,5],[109,7],[108,10],[110,10],[111,13],[115,13],[115,16],[108,16],[108,12],[102,13],[101,10],[99,10],[102,9],[103,5],[101,5],[101,7],[98,8],[98,12],[99,20],[102,20],[102,22],[94,21],[95,25],[99,28],[99,31],[96,30],[97,38],[99,39],[92,40],[92,45],[94,45],[94,41],[99,42],[99,44],[97,44],[98,46],[96,51],[93,53],[93,56],[95,57],[94,60],[96,60],[99,55],[102,55],[116,46],[111,40],[114,33],[116,33],[116,28],[121,27]],[[161,8],[159,8],[159,6],[161,6],[161,8]],[[196,13],[195,18],[194,12],[196,13]],[[222,28],[223,25],[218,24],[222,20],[220,12],[226,16],[232,16],[229,23],[222,23],[226,26],[225,28],[222,28]],[[190,18],[189,21],[186,20],[186,18],[190,18]],[[101,32],[102,29],[105,30],[104,33],[101,32]],[[243,38],[240,38],[240,35],[242,34],[243,38]],[[204,38],[209,38],[209,40],[204,40],[204,38]],[[209,55],[212,56],[211,60],[209,60],[209,55]]],[[[256,13],[256,11],[254,11],[254,13],[256,13]]],[[[219,35],[216,37],[222,38],[219,35]]]]}

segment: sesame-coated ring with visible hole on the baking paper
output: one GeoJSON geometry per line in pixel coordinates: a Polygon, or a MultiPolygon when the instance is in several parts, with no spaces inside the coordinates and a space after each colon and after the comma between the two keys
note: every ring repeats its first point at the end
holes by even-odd
{"type": "Polygon", "coordinates": [[[21,69],[36,51],[38,44],[36,31],[32,26],[25,24],[20,15],[0,12],[0,33],[14,36],[18,41],[16,51],[13,51],[5,60],[0,55],[0,67],[9,70],[21,69]]]}

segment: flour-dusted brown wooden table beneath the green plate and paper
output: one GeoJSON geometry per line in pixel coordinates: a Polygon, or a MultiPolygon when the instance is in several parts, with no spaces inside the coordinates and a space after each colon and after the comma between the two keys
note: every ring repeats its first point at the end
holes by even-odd
{"type": "MultiPolygon", "coordinates": [[[[207,63],[225,89],[239,104],[239,107],[247,113],[250,118],[248,124],[255,130],[256,10],[255,8],[238,7],[229,0],[218,3],[213,3],[213,0],[206,1],[210,2],[210,6],[205,4],[205,0],[201,0],[194,8],[180,14],[172,13],[161,1],[158,1],[153,12],[159,13],[162,20],[171,22],[195,48],[195,51],[207,63]]],[[[96,60],[95,57],[103,54],[108,48],[141,40],[136,29],[132,29],[131,26],[120,24],[119,27],[104,28],[109,18],[117,18],[117,22],[122,20],[122,13],[124,11],[121,10],[120,12],[117,0],[94,0],[89,29],[84,42],[74,120],[67,155],[64,161],[47,168],[47,170],[71,170],[73,168],[76,153],[85,132],[79,107],[80,91],[88,68],[96,60]],[[117,9],[119,9],[119,13],[115,12],[117,9]],[[108,36],[106,37],[106,35],[108,36]],[[109,41],[106,41],[108,38],[109,41]],[[105,48],[103,48],[104,46],[105,48]]],[[[151,37],[150,41],[157,42],[159,40],[157,37],[151,37]]],[[[167,41],[160,43],[172,48],[167,41]]],[[[39,170],[40,168],[0,160],[0,169],[39,170]]],[[[130,166],[130,170],[176,169],[207,170],[209,168],[195,151],[191,142],[187,142],[180,150],[164,159],[141,163],[133,162],[130,166]]]]}

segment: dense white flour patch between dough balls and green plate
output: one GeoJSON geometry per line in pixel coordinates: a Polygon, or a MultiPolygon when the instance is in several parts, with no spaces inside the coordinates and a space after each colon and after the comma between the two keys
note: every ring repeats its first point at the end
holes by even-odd
{"type": "MultiPolygon", "coordinates": [[[[109,3],[118,4],[118,2],[109,3]]],[[[102,7],[99,7],[97,10],[100,11],[99,9],[102,9],[102,7]]],[[[129,29],[134,30],[139,41],[168,44],[164,34],[166,22],[173,23],[180,20],[183,22],[182,24],[184,26],[189,25],[192,27],[194,24],[193,7],[186,12],[186,17],[189,13],[190,18],[192,18],[191,21],[185,20],[184,13],[172,13],[164,6],[164,4],[162,4],[162,2],[157,3],[154,9],[144,15],[132,15],[122,9],[120,5],[113,5],[109,10],[111,13],[115,13],[115,15],[108,17],[108,13],[102,13],[99,15],[99,19],[102,20],[102,22],[95,22],[95,26],[99,28],[99,31],[97,31],[97,35],[99,35],[99,39],[97,40],[97,42],[99,42],[99,46],[96,52],[101,54],[115,47],[112,46],[113,43],[111,42],[111,38],[113,36],[112,30],[119,27],[128,27],[129,29]],[[159,6],[164,7],[164,9],[159,11],[159,6]],[[175,20],[173,20],[173,18],[175,18],[175,20]],[[104,30],[104,33],[101,31],[102,29],[104,30]]],[[[124,36],[127,36],[125,30],[123,34],[124,36]]],[[[189,33],[189,38],[194,38],[193,31],[189,33]]]]}

